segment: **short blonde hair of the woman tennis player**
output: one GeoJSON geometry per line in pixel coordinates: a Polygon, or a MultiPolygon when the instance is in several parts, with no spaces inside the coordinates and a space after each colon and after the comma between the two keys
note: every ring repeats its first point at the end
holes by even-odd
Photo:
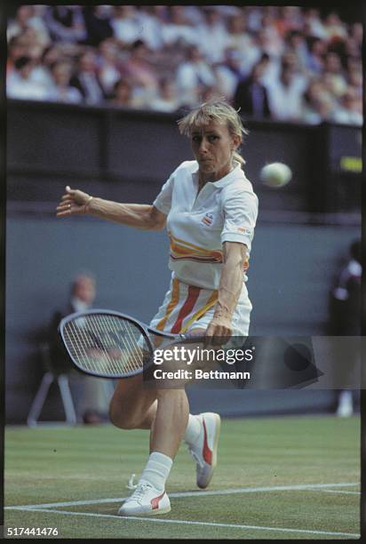
{"type": "MultiPolygon", "coordinates": [[[[212,121],[227,124],[228,132],[240,136],[241,140],[243,140],[243,134],[249,133],[243,126],[239,110],[236,111],[225,99],[209,100],[192,109],[186,116],[179,119],[179,132],[185,136],[190,136],[195,126],[201,127],[212,121]]],[[[245,164],[243,156],[237,149],[233,152],[233,160],[238,161],[241,165],[245,164]]]]}

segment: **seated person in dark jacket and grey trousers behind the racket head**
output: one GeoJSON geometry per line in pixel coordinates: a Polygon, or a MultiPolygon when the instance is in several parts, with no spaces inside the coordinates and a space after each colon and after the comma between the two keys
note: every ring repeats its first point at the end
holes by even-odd
{"type": "MultiPolygon", "coordinates": [[[[91,308],[96,295],[95,279],[90,274],[79,274],[71,284],[70,298],[66,308],[57,310],[49,326],[48,342],[53,372],[68,373],[71,388],[76,396],[76,415],[78,420],[84,423],[99,423],[107,419],[108,396],[107,388],[110,387],[107,380],[85,376],[74,370],[65,349],[61,345],[58,327],[60,320],[76,311],[84,311],[91,308]]],[[[112,391],[110,390],[110,393],[112,391]]]]}

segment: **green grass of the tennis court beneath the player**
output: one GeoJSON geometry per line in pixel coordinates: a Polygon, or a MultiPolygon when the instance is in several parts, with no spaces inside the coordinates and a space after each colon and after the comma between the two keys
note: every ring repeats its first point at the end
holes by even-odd
{"type": "MultiPolygon", "coordinates": [[[[147,431],[112,426],[7,428],[5,504],[121,498],[147,459],[147,431]]],[[[360,420],[289,417],[223,420],[219,466],[210,490],[360,481],[360,420]]],[[[195,466],[184,445],[171,470],[168,493],[196,492],[195,466]]],[[[61,538],[115,539],[349,539],[344,535],[281,532],[211,524],[251,525],[314,532],[359,532],[359,486],[320,490],[171,497],[168,524],[60,512],[5,510],[10,527],[58,527],[61,538]],[[345,491],[346,493],[340,493],[345,491]],[[352,493],[350,493],[352,492],[352,493]]],[[[120,503],[52,507],[115,516],[120,503]]],[[[354,537],[355,538],[355,537],[354,537]]]]}

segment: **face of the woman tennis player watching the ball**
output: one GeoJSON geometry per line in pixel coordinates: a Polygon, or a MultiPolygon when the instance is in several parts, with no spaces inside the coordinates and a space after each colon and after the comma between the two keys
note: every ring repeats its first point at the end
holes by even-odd
{"type": "Polygon", "coordinates": [[[227,124],[211,122],[194,126],[191,148],[199,165],[203,181],[220,180],[231,170],[233,151],[240,145],[241,137],[230,134],[227,124]]]}

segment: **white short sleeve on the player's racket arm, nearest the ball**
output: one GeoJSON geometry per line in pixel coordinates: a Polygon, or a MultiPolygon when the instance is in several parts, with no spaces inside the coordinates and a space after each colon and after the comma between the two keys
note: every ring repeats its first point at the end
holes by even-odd
{"type": "Polygon", "coordinates": [[[235,189],[223,196],[223,212],[221,243],[240,242],[250,252],[258,217],[258,197],[248,190],[235,189]]]}

